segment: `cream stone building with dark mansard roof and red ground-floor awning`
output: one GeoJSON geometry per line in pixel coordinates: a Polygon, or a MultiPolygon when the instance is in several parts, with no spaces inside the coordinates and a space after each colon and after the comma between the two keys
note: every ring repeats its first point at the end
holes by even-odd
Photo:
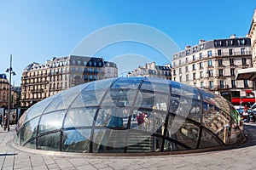
{"type": "Polygon", "coordinates": [[[239,70],[252,67],[251,40],[232,35],[227,39],[201,40],[174,54],[172,80],[205,88],[239,105],[241,98],[254,102],[253,82],[236,80],[239,70]]]}

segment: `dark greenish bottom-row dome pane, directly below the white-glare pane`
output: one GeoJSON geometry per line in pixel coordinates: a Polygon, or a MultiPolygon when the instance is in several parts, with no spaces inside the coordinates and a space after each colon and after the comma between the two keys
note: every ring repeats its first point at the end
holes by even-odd
{"type": "Polygon", "coordinates": [[[50,133],[38,137],[38,150],[60,150],[61,133],[50,133]]]}

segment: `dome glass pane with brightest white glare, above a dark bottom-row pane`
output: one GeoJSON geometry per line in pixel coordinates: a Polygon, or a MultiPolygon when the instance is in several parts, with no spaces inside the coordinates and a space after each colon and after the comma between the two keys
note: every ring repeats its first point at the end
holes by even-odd
{"type": "Polygon", "coordinates": [[[51,130],[60,129],[65,113],[65,111],[56,111],[43,115],[39,122],[38,133],[46,133],[51,130]]]}

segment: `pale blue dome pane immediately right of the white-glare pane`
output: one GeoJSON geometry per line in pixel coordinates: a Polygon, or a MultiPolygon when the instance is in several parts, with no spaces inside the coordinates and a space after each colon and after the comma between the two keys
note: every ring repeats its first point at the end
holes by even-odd
{"type": "Polygon", "coordinates": [[[67,111],[64,127],[92,126],[96,108],[73,109],[67,111]]]}

